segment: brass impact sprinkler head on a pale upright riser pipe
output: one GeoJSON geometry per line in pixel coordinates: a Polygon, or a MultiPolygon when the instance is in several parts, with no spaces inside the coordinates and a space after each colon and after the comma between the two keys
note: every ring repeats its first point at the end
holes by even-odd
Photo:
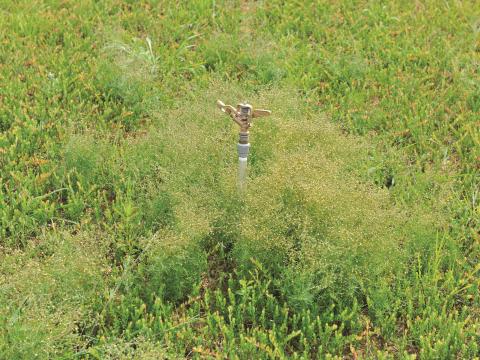
{"type": "Polygon", "coordinates": [[[270,110],[254,109],[252,105],[244,103],[238,104],[235,109],[232,105],[225,105],[222,101],[217,100],[217,106],[224,113],[230,115],[238,126],[240,132],[238,133],[238,186],[240,191],[245,188],[245,179],[247,176],[247,158],[250,150],[250,142],[248,140],[249,129],[252,126],[252,119],[263,116],[268,116],[272,112],[270,110]]]}

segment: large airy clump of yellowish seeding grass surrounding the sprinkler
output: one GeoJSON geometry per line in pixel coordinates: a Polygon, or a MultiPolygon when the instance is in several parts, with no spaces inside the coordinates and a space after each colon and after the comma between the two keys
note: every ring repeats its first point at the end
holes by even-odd
{"type": "Polygon", "coordinates": [[[176,230],[229,249],[238,269],[259,260],[299,306],[352,301],[363,287],[389,281],[418,234],[387,190],[366,182],[372,148],[306,116],[289,92],[252,97],[275,113],[252,129],[249,189],[239,197],[237,129],[205,106],[217,96],[211,90],[188,109],[158,114],[159,130],[138,140],[149,151],[162,144],[158,161],[169,169],[162,187],[175,204],[176,230]]]}

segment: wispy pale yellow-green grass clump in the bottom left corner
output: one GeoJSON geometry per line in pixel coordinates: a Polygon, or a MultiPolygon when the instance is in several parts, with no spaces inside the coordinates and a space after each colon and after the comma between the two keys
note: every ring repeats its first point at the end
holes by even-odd
{"type": "Polygon", "coordinates": [[[105,252],[95,234],[44,235],[0,257],[0,357],[72,356],[78,324],[104,289],[105,252]]]}

